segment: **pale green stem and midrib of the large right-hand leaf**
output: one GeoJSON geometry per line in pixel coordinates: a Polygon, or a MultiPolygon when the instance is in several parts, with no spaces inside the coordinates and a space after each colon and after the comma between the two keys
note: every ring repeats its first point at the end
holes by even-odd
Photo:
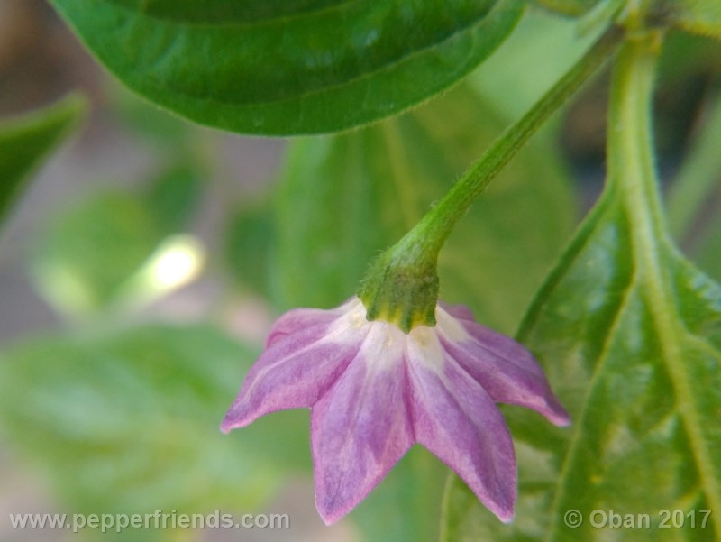
{"type": "MultiPolygon", "coordinates": [[[[661,347],[662,363],[671,376],[676,398],[676,410],[686,427],[689,447],[698,468],[701,486],[712,510],[721,510],[721,483],[716,480],[711,453],[705,442],[701,415],[693,400],[694,394],[688,374],[683,368],[684,341],[695,339],[689,334],[679,307],[666,288],[663,264],[676,257],[667,241],[666,226],[658,196],[657,179],[653,168],[651,149],[651,119],[649,116],[653,92],[653,60],[643,45],[630,51],[626,78],[619,78],[625,86],[622,98],[616,104],[619,122],[625,121],[625,130],[617,134],[613,145],[618,162],[616,181],[621,190],[621,205],[627,224],[630,225],[631,253],[635,268],[640,274],[640,287],[645,294],[653,320],[653,328],[661,347]],[[617,145],[617,146],[616,146],[617,145]]],[[[619,70],[620,71],[620,70],[619,70]]],[[[613,118],[613,117],[612,117],[613,118]]],[[[669,281],[673,277],[668,277],[669,281]]],[[[721,540],[721,521],[714,520],[716,538],[721,540]]]]}

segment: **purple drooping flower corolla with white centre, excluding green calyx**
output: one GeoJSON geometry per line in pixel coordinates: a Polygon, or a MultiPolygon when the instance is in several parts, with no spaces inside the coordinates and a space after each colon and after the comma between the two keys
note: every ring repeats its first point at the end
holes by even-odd
{"type": "Polygon", "coordinates": [[[440,303],[436,326],[408,334],[366,319],[357,297],[280,317],[221,428],[281,409],[311,409],[315,501],[325,523],[353,509],[420,443],[502,521],[513,518],[516,456],[496,402],[570,418],[516,341],[440,303]]]}

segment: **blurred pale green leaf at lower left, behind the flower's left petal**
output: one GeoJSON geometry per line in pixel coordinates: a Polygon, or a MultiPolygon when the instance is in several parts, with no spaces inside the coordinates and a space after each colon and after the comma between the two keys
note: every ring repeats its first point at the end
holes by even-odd
{"type": "Polygon", "coordinates": [[[35,337],[0,358],[0,431],[74,512],[247,512],[310,466],[306,413],[219,430],[255,354],[211,326],[35,337]]]}

